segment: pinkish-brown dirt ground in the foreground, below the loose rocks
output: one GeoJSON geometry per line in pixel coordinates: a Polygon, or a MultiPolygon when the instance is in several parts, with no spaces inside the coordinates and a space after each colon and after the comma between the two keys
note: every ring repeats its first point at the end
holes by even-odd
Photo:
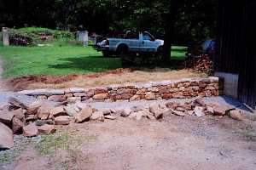
{"type": "Polygon", "coordinates": [[[254,170],[255,129],[253,121],[212,116],[71,124],[28,144],[3,170],[254,170]]]}

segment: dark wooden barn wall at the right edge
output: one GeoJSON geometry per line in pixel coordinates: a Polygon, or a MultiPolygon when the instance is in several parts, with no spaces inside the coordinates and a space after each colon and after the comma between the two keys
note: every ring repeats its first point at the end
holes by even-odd
{"type": "Polygon", "coordinates": [[[215,71],[238,75],[238,98],[256,105],[256,0],[219,0],[215,71]]]}

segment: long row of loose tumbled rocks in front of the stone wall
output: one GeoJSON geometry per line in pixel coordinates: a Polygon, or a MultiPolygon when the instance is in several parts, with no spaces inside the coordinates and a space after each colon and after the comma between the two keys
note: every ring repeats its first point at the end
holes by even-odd
{"type": "Polygon", "coordinates": [[[9,105],[0,107],[0,148],[9,149],[13,146],[13,133],[23,133],[26,137],[33,137],[39,133],[54,133],[55,125],[68,125],[71,122],[104,122],[105,119],[115,120],[117,116],[137,121],[143,118],[157,120],[171,114],[198,117],[228,115],[236,120],[242,120],[240,111],[226,105],[206,104],[202,98],[183,104],[168,102],[162,105],[138,105],[100,110],[75,100],[67,100],[52,106],[42,100],[24,105],[18,99],[10,98],[9,105]]]}

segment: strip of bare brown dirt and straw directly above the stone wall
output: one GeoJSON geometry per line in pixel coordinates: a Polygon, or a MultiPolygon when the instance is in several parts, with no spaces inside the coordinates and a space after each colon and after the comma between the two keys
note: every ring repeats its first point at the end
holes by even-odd
{"type": "Polygon", "coordinates": [[[117,69],[113,71],[101,72],[87,75],[68,75],[61,77],[54,76],[26,76],[9,80],[11,90],[19,91],[24,89],[35,88],[91,88],[100,87],[109,84],[119,84],[126,82],[148,82],[175,80],[189,77],[206,77],[204,73],[198,73],[189,70],[170,70],[170,69],[154,69],[154,70],[133,70],[133,69],[117,69]]]}

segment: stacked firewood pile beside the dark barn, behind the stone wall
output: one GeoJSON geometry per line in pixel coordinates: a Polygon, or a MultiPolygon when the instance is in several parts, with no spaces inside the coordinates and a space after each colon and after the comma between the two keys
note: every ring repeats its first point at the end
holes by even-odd
{"type": "Polygon", "coordinates": [[[213,63],[208,55],[202,54],[199,57],[189,57],[184,61],[185,68],[195,71],[208,72],[212,70],[213,63]]]}

